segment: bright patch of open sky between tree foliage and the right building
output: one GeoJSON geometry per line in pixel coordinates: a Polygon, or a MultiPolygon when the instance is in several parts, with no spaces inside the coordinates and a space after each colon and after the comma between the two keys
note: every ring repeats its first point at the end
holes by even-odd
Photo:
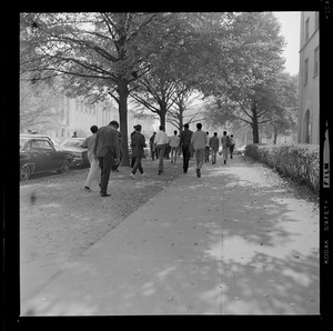
{"type": "Polygon", "coordinates": [[[290,74],[297,74],[300,70],[300,11],[274,11],[281,26],[281,34],[286,42],[283,57],[285,70],[290,74]]]}

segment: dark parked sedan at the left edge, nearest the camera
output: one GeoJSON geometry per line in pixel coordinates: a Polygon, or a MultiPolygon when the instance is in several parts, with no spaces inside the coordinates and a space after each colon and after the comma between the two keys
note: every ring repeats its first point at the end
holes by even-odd
{"type": "Polygon", "coordinates": [[[56,150],[50,138],[36,134],[20,134],[20,180],[29,180],[32,173],[57,171],[68,172],[73,157],[56,150]]]}

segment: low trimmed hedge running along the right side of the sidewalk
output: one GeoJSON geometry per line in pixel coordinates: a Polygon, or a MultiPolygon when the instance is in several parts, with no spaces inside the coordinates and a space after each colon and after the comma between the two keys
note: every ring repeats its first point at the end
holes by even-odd
{"type": "Polygon", "coordinates": [[[320,148],[316,144],[248,144],[245,156],[283,175],[320,190],[320,148]]]}

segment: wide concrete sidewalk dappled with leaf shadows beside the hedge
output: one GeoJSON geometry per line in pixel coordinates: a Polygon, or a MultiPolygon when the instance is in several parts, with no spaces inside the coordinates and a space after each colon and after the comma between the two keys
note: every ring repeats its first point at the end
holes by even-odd
{"type": "Polygon", "coordinates": [[[319,314],[319,213],[263,169],[240,157],[190,169],[22,315],[319,314]]]}

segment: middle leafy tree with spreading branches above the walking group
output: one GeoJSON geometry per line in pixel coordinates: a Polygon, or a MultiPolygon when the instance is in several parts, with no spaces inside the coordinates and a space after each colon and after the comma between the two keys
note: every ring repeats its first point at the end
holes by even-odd
{"type": "MultiPolygon", "coordinates": [[[[164,17],[150,39],[151,70],[135,82],[131,96],[160,117],[165,127],[179,113],[170,110],[179,93],[200,89],[213,60],[221,58],[220,41],[230,13],[173,13],[164,17]]],[[[211,72],[211,70],[209,71],[211,72]]],[[[179,108],[182,111],[181,108],[179,108]]],[[[182,126],[180,126],[182,127],[182,126]]]]}

